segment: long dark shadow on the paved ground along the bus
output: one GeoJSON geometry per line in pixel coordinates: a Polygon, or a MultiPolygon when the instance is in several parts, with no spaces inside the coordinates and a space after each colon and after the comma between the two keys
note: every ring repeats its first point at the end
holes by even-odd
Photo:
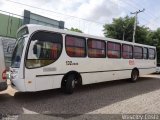
{"type": "MultiPolygon", "coordinates": [[[[153,75],[154,76],[154,75],[153,75]]],[[[136,83],[128,80],[85,85],[72,95],[60,89],[34,93],[0,95],[0,113],[22,114],[25,108],[36,113],[54,116],[77,116],[160,89],[160,79],[143,77],[136,83]]]]}

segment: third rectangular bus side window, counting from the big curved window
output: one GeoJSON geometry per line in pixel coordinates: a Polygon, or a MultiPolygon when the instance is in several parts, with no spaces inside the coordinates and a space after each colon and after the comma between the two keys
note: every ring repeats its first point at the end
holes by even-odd
{"type": "Polygon", "coordinates": [[[121,58],[121,44],[107,42],[107,56],[108,58],[121,58]]]}

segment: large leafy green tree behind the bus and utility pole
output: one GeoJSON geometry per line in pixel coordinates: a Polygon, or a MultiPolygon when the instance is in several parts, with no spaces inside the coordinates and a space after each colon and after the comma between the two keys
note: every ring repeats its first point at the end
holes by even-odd
{"type": "MultiPolygon", "coordinates": [[[[111,24],[105,24],[104,27],[104,35],[106,37],[132,41],[133,38],[133,28],[134,28],[134,17],[120,17],[113,19],[111,24]]],[[[136,42],[144,43],[147,40],[147,36],[149,34],[149,28],[145,26],[138,26],[136,29],[136,42]]]]}

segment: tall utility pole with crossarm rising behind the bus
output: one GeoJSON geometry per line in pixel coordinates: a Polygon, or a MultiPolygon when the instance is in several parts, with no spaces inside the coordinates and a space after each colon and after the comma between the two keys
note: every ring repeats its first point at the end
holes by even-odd
{"type": "Polygon", "coordinates": [[[141,12],[144,12],[145,9],[143,10],[138,10],[136,12],[131,12],[131,14],[135,14],[135,21],[134,21],[134,31],[133,31],[133,43],[135,43],[135,35],[136,35],[136,27],[137,27],[137,17],[138,17],[138,14],[141,13],[141,12]]]}

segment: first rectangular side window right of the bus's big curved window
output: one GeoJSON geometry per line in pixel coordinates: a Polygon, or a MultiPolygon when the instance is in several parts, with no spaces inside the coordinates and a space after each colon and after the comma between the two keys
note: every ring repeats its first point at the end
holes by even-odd
{"type": "Polygon", "coordinates": [[[86,56],[85,38],[67,35],[66,52],[70,57],[85,57],[86,56]]]}

